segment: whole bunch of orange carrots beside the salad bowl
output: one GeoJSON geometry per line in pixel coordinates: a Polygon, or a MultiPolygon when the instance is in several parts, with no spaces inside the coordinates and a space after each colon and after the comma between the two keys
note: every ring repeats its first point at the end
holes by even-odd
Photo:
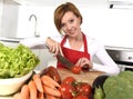
{"type": "Polygon", "coordinates": [[[13,99],[60,99],[61,86],[50,76],[34,73],[32,79],[24,83],[13,99]]]}

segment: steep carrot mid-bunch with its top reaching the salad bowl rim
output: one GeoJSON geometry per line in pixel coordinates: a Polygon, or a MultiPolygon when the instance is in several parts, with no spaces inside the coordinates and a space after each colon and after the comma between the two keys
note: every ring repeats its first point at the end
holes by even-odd
{"type": "Polygon", "coordinates": [[[37,86],[37,89],[40,91],[40,92],[43,92],[43,88],[42,88],[42,81],[41,81],[41,78],[40,78],[40,75],[33,75],[33,80],[35,82],[35,86],[37,86]]]}

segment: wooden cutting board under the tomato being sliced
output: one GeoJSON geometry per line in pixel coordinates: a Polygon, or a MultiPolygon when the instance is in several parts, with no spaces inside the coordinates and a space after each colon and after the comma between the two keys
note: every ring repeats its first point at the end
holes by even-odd
{"type": "Polygon", "coordinates": [[[78,81],[88,82],[91,86],[93,85],[93,81],[96,77],[104,73],[104,72],[100,72],[100,71],[86,71],[81,75],[74,75],[68,69],[58,69],[58,72],[59,72],[61,79],[64,79],[65,77],[71,76],[71,77],[74,77],[78,81]]]}

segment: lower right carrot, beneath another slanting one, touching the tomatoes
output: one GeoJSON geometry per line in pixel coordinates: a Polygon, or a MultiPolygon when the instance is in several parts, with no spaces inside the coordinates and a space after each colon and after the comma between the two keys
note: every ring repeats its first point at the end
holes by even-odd
{"type": "Polygon", "coordinates": [[[43,86],[44,93],[55,96],[55,97],[61,97],[61,92],[59,89],[53,89],[48,86],[43,86]]]}

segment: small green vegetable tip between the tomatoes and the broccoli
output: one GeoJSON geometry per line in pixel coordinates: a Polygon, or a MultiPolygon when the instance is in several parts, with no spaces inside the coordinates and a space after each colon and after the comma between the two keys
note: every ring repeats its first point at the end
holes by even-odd
{"type": "Polygon", "coordinates": [[[104,92],[103,92],[103,89],[101,87],[95,88],[94,99],[104,99],[104,92]]]}

